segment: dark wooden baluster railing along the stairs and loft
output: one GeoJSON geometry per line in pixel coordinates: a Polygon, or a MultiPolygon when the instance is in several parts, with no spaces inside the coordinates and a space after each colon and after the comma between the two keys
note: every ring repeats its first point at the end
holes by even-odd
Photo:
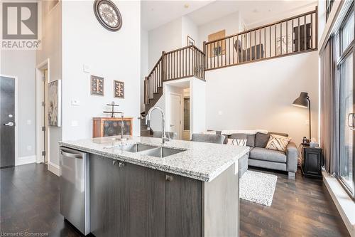
{"type": "Polygon", "coordinates": [[[163,52],[144,80],[145,114],[163,95],[163,83],[207,70],[317,51],[317,7],[313,11],[196,46],[163,52]]]}

